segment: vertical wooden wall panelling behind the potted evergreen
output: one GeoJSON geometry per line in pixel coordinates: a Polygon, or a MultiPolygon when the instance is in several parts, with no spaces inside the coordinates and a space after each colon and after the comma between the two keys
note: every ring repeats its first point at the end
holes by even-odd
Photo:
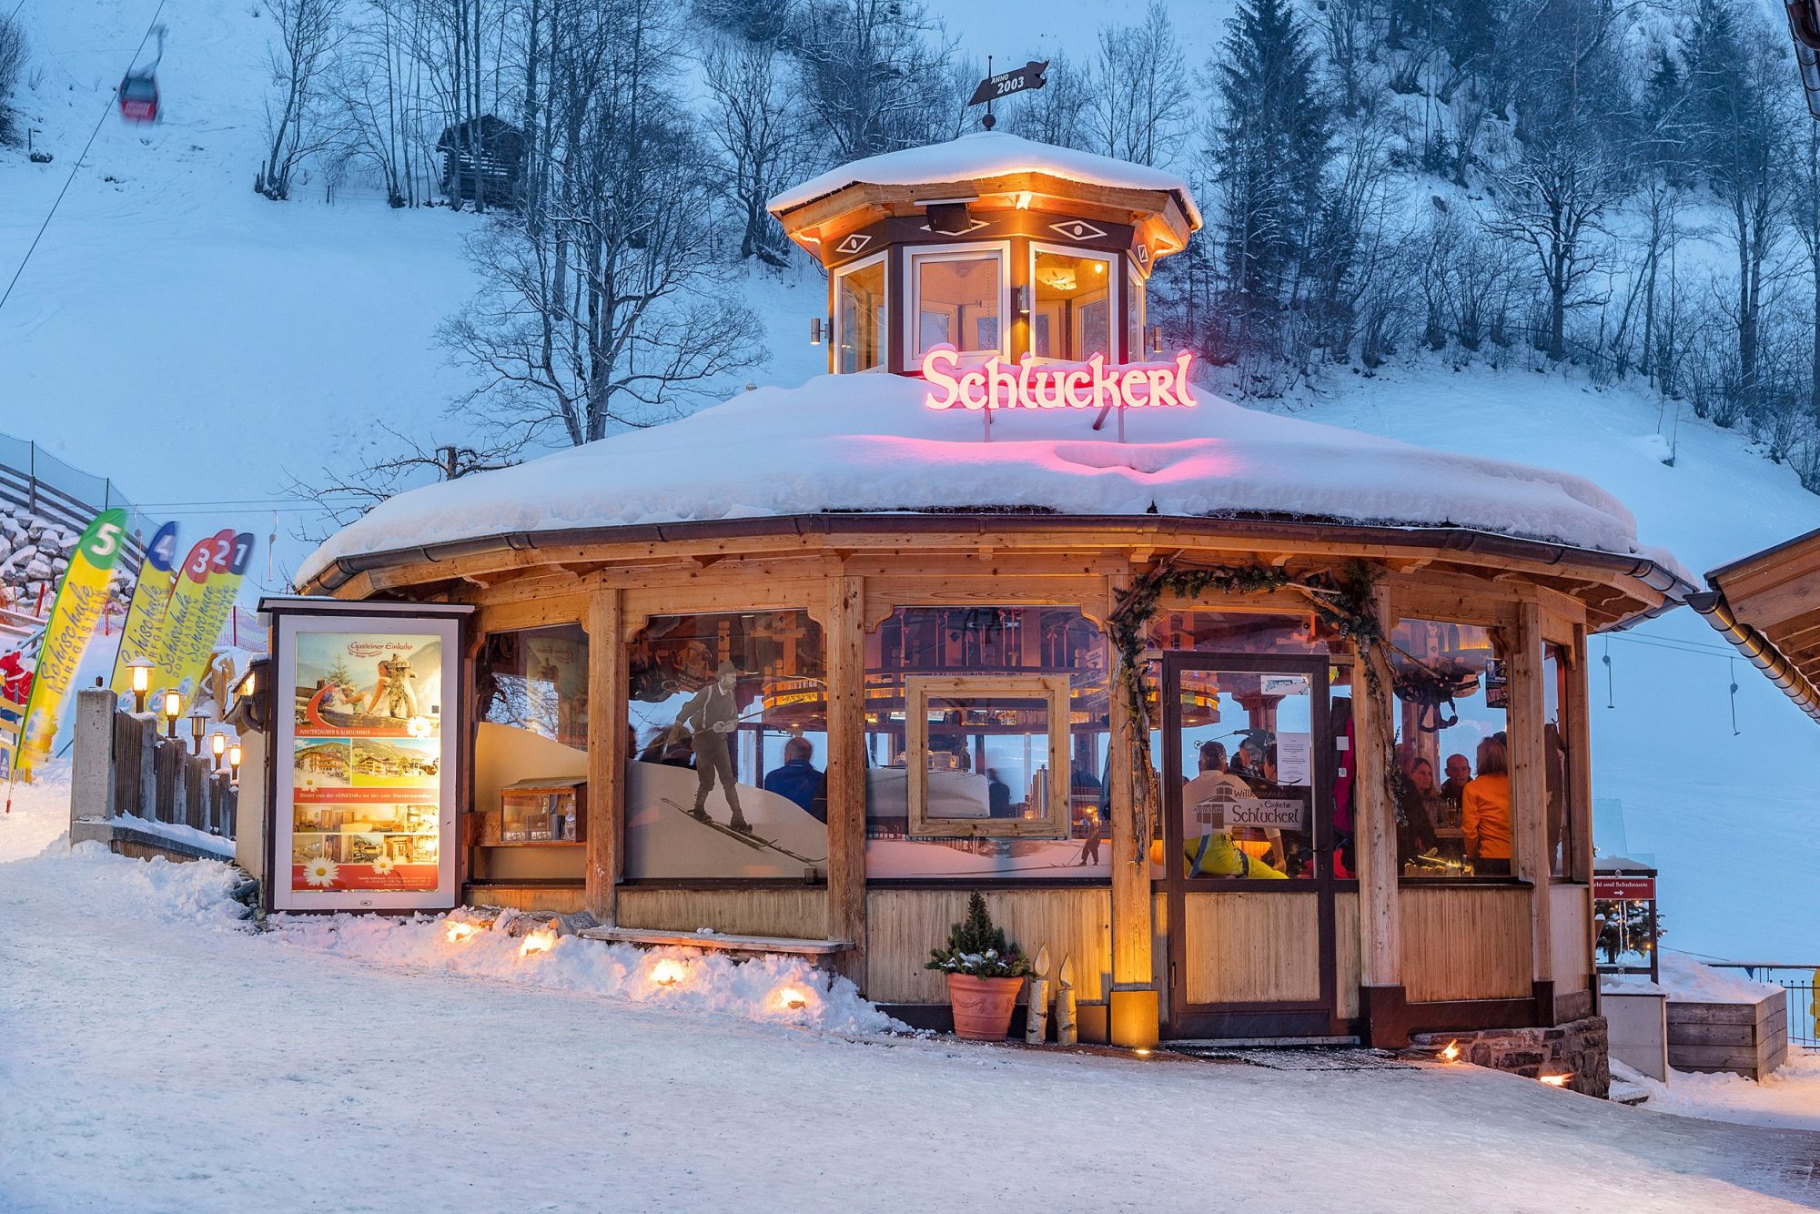
{"type": "MultiPolygon", "coordinates": [[[[966,888],[868,890],[866,986],[879,1003],[945,1003],[946,979],[925,970],[928,950],[966,917],[966,888]]],[[[1112,894],[1096,888],[990,890],[992,919],[1032,957],[1045,945],[1054,965],[1074,957],[1074,992],[1105,999],[1112,981],[1112,894]]]]}

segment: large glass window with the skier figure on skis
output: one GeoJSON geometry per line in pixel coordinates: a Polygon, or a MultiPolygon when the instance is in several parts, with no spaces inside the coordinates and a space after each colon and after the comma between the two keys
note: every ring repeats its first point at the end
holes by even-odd
{"type": "Polygon", "coordinates": [[[823,661],[806,612],[652,617],[628,650],[628,879],[826,875],[823,661]]]}

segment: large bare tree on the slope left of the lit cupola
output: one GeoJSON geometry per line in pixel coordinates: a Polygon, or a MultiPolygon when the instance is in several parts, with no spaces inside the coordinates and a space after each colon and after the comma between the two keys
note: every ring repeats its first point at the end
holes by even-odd
{"type": "Polygon", "coordinates": [[[764,357],[757,319],[721,289],[719,186],[673,96],[673,5],[553,9],[544,58],[544,184],[470,240],[484,286],[444,326],[482,375],[468,411],[495,444],[664,420],[764,357]]]}

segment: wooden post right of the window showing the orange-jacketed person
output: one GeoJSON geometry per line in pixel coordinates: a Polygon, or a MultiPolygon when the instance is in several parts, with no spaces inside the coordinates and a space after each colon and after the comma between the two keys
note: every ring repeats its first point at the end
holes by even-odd
{"type": "Polygon", "coordinates": [[[1529,881],[1529,957],[1536,1023],[1554,1023],[1549,788],[1542,755],[1542,606],[1520,602],[1511,630],[1511,859],[1529,881]]]}

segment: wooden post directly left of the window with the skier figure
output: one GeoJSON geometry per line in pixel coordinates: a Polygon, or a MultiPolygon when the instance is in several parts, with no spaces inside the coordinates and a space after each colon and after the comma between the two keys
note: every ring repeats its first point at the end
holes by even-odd
{"type": "Polygon", "coordinates": [[[606,926],[619,919],[619,877],[624,872],[626,641],[621,592],[601,588],[588,599],[588,912],[606,926]]]}

